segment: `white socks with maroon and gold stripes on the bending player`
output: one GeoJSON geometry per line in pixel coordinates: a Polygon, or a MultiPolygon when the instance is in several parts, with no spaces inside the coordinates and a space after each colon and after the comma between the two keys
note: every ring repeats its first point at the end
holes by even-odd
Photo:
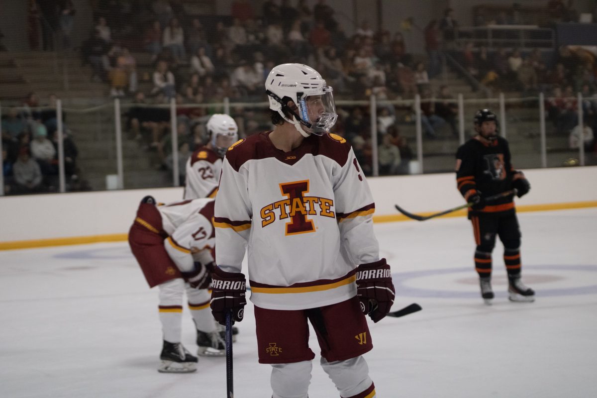
{"type": "MultiPolygon", "coordinates": [[[[211,294],[207,289],[194,289],[184,279],[171,279],[158,285],[159,306],[183,306],[183,296],[186,291],[187,301],[190,304],[203,303],[202,306],[189,306],[190,313],[195,321],[196,328],[202,332],[216,331],[216,321],[211,314],[211,294]]],[[[159,311],[159,320],[162,323],[164,340],[170,343],[180,343],[182,333],[182,310],[168,309],[159,311]]]]}

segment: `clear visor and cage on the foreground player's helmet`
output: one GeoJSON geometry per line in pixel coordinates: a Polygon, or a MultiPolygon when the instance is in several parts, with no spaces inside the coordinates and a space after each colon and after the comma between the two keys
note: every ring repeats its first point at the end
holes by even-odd
{"type": "Polygon", "coordinates": [[[311,125],[310,128],[303,126],[306,131],[322,135],[330,132],[330,129],[336,124],[338,115],[332,91],[330,86],[326,86],[322,89],[321,94],[311,94],[298,101],[300,118],[311,125]]]}

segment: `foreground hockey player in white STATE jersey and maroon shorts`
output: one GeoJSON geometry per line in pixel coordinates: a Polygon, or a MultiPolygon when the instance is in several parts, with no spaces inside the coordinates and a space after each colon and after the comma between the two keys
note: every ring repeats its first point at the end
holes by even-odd
{"type": "Polygon", "coordinates": [[[371,350],[365,314],[378,322],[394,299],[379,257],[375,205],[336,122],[333,91],[316,70],[281,64],[267,76],[273,131],[252,135],[224,158],[214,226],[219,264],[211,308],[242,320],[248,245],[260,363],[272,366],[273,398],[306,398],[315,357],[343,398],[376,396],[362,354],[371,350]],[[355,283],[356,282],[356,283],[355,283]]]}

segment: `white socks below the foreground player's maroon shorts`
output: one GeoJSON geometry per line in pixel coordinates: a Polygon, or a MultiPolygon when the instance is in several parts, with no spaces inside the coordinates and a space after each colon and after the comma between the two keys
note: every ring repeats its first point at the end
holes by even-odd
{"type": "MultiPolygon", "coordinates": [[[[367,390],[372,383],[367,362],[362,356],[335,362],[327,362],[322,357],[321,366],[336,385],[341,397],[355,396],[367,390]]],[[[272,397],[307,398],[311,369],[310,360],[272,365],[272,397]]]]}

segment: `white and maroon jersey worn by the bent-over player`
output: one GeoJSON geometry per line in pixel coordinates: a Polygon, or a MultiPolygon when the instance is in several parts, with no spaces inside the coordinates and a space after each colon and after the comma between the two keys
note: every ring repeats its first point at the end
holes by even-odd
{"type": "Polygon", "coordinates": [[[164,247],[180,271],[193,270],[193,261],[211,263],[216,236],[212,219],[214,199],[183,200],[157,206],[168,234],[164,247]]]}

